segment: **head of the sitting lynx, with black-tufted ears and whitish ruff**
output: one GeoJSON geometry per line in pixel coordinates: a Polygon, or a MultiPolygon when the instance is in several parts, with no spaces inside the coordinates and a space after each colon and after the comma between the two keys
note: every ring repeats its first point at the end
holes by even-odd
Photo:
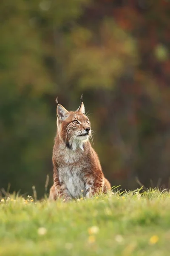
{"type": "Polygon", "coordinates": [[[82,102],[77,111],[67,111],[62,105],[57,103],[57,130],[59,138],[66,147],[72,150],[81,148],[91,135],[91,125],[85,116],[85,106],[82,102]]]}

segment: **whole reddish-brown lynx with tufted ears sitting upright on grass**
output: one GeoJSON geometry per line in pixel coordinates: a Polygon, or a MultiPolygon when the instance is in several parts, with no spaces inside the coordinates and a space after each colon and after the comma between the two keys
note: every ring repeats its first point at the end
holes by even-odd
{"type": "Polygon", "coordinates": [[[107,192],[111,184],[103,175],[99,158],[89,142],[91,123],[82,102],[77,111],[67,111],[57,102],[57,135],[53,148],[54,185],[49,199],[93,197],[107,192]]]}

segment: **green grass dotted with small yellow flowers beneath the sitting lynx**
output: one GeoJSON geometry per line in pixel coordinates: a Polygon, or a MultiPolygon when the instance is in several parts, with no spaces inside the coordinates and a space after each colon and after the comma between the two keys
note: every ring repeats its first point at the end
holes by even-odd
{"type": "Polygon", "coordinates": [[[0,202],[0,256],[169,256],[170,194],[0,202]]]}

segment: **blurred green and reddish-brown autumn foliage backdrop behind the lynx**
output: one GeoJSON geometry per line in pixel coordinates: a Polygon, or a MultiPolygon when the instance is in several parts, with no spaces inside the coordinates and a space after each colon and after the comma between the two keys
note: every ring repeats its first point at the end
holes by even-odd
{"type": "Polygon", "coordinates": [[[52,183],[56,104],[88,111],[105,176],[170,186],[170,1],[0,4],[0,188],[52,183]]]}

